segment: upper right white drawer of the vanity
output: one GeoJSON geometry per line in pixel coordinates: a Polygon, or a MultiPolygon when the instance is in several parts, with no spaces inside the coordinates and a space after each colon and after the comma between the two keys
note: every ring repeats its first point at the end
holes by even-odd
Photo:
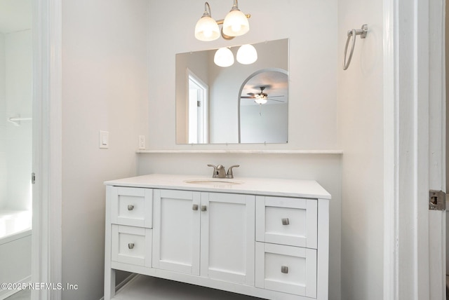
{"type": "Polygon", "coordinates": [[[256,240],[316,249],[317,203],[316,199],[257,196],[256,240]]]}

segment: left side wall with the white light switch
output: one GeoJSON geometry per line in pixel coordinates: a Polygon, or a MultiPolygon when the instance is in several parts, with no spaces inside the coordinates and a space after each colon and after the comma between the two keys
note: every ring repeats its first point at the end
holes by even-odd
{"type": "Polygon", "coordinates": [[[147,134],[147,1],[62,1],[62,299],[103,295],[105,186],[147,134]],[[99,130],[109,149],[98,148],[99,130]]]}

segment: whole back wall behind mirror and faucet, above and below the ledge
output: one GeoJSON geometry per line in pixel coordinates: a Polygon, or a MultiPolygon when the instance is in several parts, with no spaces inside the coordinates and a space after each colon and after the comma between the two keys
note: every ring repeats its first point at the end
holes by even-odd
{"type": "MultiPolygon", "coordinates": [[[[213,18],[224,18],[232,1],[208,1],[213,18]]],[[[337,128],[337,0],[240,1],[250,13],[250,32],[234,41],[201,42],[194,25],[204,1],[149,0],[149,149],[335,149],[337,128]],[[170,12],[170,21],[166,14],[170,12]],[[163,30],[159,30],[163,24],[163,30]],[[311,30],[313,29],[313,30],[311,30]],[[175,53],[242,43],[290,39],[288,144],[175,144],[175,53]],[[173,39],[176,42],[167,42],[173,39]],[[161,101],[163,99],[163,101],[161,101]]],[[[339,60],[340,61],[340,60],[339,60]]],[[[140,175],[160,172],[209,176],[208,163],[229,166],[235,177],[316,179],[330,202],[330,300],[340,299],[340,155],[140,154],[140,175]]]]}

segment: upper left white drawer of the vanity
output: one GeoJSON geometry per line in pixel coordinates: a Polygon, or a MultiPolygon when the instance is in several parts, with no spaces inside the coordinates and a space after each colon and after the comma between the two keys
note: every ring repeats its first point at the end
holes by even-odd
{"type": "Polygon", "coordinates": [[[111,223],[153,227],[153,190],[112,186],[111,223]]]}

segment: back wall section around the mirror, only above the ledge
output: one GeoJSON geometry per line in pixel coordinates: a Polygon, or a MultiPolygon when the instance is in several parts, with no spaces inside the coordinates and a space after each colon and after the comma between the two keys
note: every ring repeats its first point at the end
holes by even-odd
{"type": "MultiPolygon", "coordinates": [[[[213,18],[220,19],[229,12],[232,1],[212,0],[209,4],[213,18]]],[[[149,149],[191,149],[175,144],[175,53],[285,38],[290,39],[289,128],[293,132],[287,145],[270,145],[269,149],[337,147],[337,0],[241,1],[241,10],[252,15],[250,32],[232,41],[211,42],[198,41],[193,34],[204,1],[150,0],[149,5],[149,149]],[[170,22],[161,12],[170,12],[170,22]]],[[[210,145],[208,149],[223,147],[210,145]]]]}

